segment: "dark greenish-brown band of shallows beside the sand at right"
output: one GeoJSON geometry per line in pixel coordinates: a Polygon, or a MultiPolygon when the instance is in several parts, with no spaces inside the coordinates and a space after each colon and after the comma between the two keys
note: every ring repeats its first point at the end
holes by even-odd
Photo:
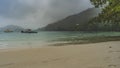
{"type": "Polygon", "coordinates": [[[90,37],[81,39],[64,39],[66,43],[54,44],[54,46],[71,45],[71,44],[91,44],[91,43],[102,43],[102,42],[112,42],[120,41],[120,36],[101,36],[101,37],[90,37]]]}

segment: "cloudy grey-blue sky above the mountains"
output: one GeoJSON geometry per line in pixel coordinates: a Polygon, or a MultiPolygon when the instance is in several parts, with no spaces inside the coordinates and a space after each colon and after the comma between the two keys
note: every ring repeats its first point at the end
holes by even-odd
{"type": "Polygon", "coordinates": [[[89,0],[0,0],[0,27],[36,29],[91,7],[89,0]]]}

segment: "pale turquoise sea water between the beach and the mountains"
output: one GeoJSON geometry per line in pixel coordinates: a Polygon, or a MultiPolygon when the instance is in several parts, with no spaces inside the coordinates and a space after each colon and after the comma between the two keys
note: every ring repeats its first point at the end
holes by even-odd
{"type": "Polygon", "coordinates": [[[67,42],[64,39],[99,36],[120,36],[120,32],[41,31],[36,34],[0,32],[0,49],[42,47],[56,42],[67,42]]]}

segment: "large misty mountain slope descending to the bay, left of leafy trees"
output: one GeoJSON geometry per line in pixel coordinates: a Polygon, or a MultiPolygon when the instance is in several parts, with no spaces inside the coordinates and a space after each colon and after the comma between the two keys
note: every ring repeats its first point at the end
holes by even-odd
{"type": "Polygon", "coordinates": [[[92,18],[98,16],[101,12],[98,8],[89,8],[79,14],[71,15],[58,22],[48,24],[39,30],[46,31],[83,31],[92,18]]]}

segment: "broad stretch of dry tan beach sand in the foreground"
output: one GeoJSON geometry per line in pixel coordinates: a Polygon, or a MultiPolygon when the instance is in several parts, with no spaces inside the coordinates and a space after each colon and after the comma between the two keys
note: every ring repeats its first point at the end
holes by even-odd
{"type": "Polygon", "coordinates": [[[120,42],[1,51],[0,68],[120,68],[120,42]]]}

